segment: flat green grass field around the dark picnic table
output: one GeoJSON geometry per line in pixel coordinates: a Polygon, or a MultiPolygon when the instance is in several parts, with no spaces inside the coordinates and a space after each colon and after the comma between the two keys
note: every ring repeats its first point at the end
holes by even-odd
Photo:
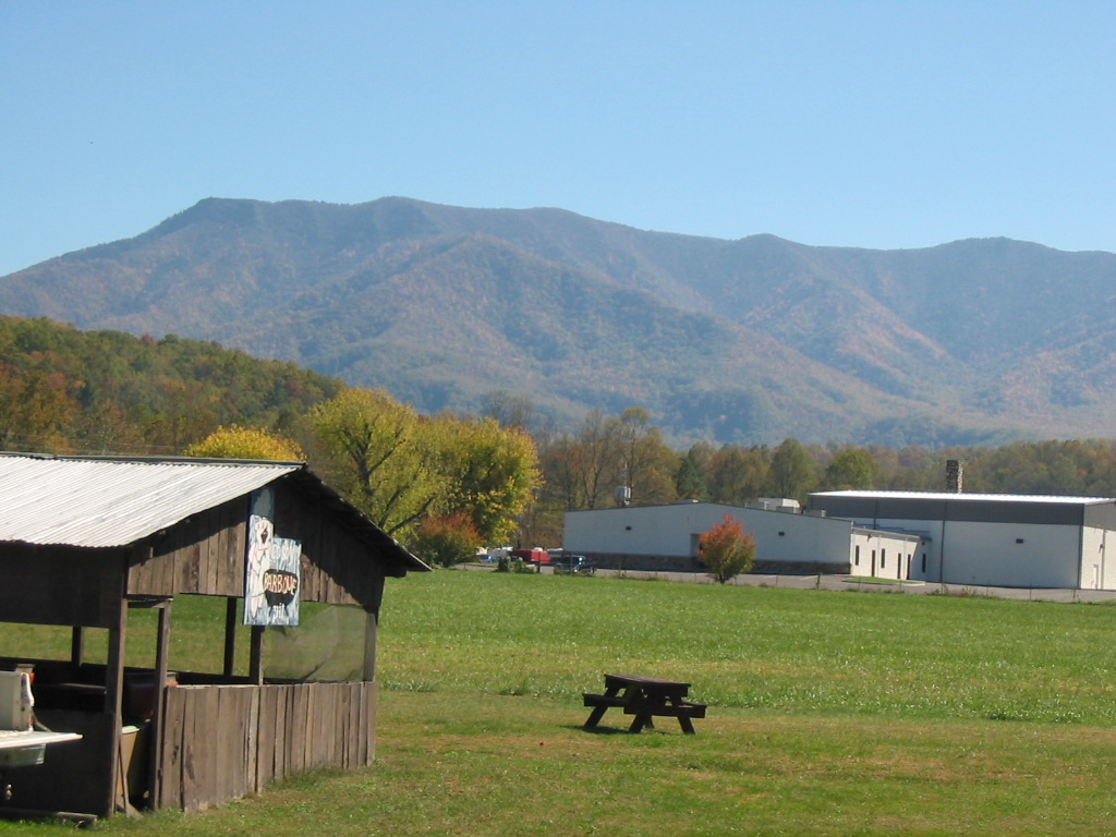
{"type": "MultiPolygon", "coordinates": [[[[204,603],[175,607],[172,667],[218,654],[204,603]]],[[[1112,834],[1114,622],[1103,605],[411,576],[385,596],[374,767],[98,830],[1112,834]],[[709,716],[692,737],[668,719],[629,735],[615,712],[587,732],[580,694],[608,671],[685,680],[709,716]]]]}

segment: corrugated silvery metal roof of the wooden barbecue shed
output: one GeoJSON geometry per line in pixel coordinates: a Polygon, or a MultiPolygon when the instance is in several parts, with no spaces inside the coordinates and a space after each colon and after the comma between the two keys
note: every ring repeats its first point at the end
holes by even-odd
{"type": "Polygon", "coordinates": [[[0,541],[126,546],[302,468],[0,454],[0,541]]]}

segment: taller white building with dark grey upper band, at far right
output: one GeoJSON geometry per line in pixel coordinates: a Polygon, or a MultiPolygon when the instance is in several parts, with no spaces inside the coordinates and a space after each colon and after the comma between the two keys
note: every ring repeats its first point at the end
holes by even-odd
{"type": "Polygon", "coordinates": [[[810,509],[922,536],[911,577],[997,587],[1116,589],[1116,500],[910,491],[826,491],[810,509]]]}

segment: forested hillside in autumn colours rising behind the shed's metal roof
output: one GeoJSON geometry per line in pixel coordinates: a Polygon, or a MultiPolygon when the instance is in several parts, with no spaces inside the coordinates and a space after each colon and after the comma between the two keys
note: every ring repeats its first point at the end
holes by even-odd
{"type": "Polygon", "coordinates": [[[344,388],[212,343],[0,317],[0,449],[179,454],[220,425],[290,429],[344,388]]]}

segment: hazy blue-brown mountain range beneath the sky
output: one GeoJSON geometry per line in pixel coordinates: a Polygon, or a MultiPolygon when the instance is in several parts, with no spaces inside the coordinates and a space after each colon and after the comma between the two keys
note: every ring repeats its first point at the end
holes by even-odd
{"type": "Polygon", "coordinates": [[[0,314],[176,334],[424,412],[526,395],[668,440],[1110,436],[1116,254],[728,241],[557,209],[206,199],[0,278],[0,314]]]}

